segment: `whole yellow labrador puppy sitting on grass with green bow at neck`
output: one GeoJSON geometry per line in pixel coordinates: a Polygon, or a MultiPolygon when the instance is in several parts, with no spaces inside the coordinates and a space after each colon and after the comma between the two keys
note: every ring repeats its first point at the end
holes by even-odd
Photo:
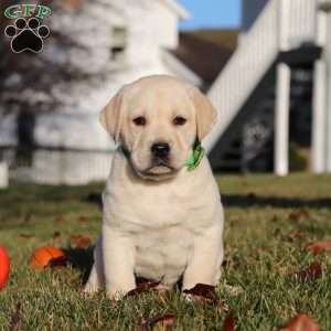
{"type": "Polygon", "coordinates": [[[116,299],[135,276],[183,290],[216,285],[223,207],[200,141],[216,110],[195,87],[150,76],[122,87],[100,114],[120,148],[103,194],[104,216],[85,291],[116,299]]]}

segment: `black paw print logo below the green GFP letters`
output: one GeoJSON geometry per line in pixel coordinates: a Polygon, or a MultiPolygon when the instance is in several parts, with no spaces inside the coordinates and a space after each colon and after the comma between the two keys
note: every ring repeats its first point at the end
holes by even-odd
{"type": "Polygon", "coordinates": [[[10,44],[14,53],[40,53],[44,46],[43,39],[50,35],[50,29],[41,25],[36,18],[30,18],[28,21],[20,18],[13,25],[6,28],[4,34],[12,39],[10,44]]]}

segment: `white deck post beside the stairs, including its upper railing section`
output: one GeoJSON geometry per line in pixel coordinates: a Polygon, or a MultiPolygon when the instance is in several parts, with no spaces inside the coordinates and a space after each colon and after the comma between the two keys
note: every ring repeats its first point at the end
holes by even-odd
{"type": "MultiPolygon", "coordinates": [[[[280,0],[278,10],[279,50],[287,51],[289,38],[289,1],[280,0]]],[[[290,67],[286,63],[277,65],[276,109],[275,109],[275,173],[288,174],[290,67]]]]}

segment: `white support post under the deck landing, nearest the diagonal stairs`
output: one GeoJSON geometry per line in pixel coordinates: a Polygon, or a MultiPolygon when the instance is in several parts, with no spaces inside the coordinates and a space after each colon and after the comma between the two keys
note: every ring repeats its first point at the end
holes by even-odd
{"type": "Polygon", "coordinates": [[[275,172],[278,175],[287,175],[289,169],[290,73],[289,65],[278,64],[275,115],[275,172]]]}

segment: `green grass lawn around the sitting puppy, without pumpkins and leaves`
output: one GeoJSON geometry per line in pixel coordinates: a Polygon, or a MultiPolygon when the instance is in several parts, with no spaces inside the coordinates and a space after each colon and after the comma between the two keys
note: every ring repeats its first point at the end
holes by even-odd
{"type": "MultiPolygon", "coordinates": [[[[222,175],[217,181],[226,211],[227,261],[217,295],[236,317],[238,330],[277,330],[299,311],[331,330],[331,254],[313,256],[303,248],[331,237],[331,177],[222,175]],[[293,235],[298,229],[301,237],[293,235]],[[323,267],[321,278],[299,282],[291,277],[313,260],[323,267]]],[[[0,330],[137,330],[142,318],[172,312],[174,330],[221,330],[226,312],[185,301],[178,291],[147,292],[117,303],[104,292],[94,298],[81,295],[90,248],[72,247],[70,237],[83,234],[95,241],[100,210],[86,197],[102,190],[99,184],[13,183],[0,192],[0,245],[8,248],[12,265],[10,281],[0,291],[0,330]],[[54,232],[60,238],[53,239],[54,232]],[[72,265],[31,269],[33,249],[49,244],[66,248],[72,265]],[[13,317],[18,302],[21,311],[13,317]]]]}

